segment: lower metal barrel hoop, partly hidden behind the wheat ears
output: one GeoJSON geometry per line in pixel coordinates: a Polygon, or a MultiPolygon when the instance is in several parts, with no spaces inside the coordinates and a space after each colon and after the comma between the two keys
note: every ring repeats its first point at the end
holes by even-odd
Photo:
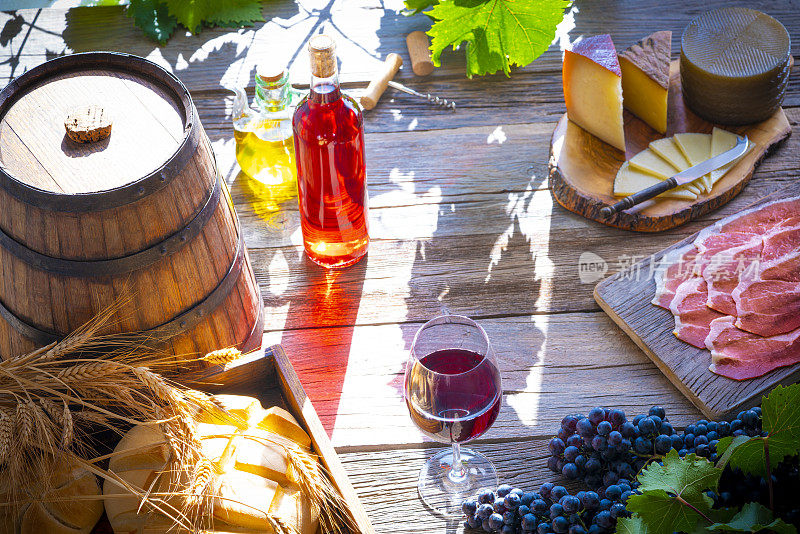
{"type": "MultiPolygon", "coordinates": [[[[244,247],[244,240],[239,234],[239,240],[236,245],[236,256],[233,259],[228,272],[223,277],[222,281],[217,284],[211,293],[209,293],[202,301],[190,308],[189,310],[181,313],[174,319],[167,321],[159,326],[145,330],[144,333],[150,334],[147,337],[156,341],[166,341],[179,334],[187,332],[197,326],[200,321],[210,316],[220,304],[222,304],[228,297],[230,292],[236,286],[239,280],[239,275],[242,273],[246,253],[244,247]]],[[[260,310],[261,306],[259,306],[260,310]]],[[[31,340],[36,345],[48,345],[54,341],[62,339],[63,336],[41,330],[29,323],[26,323],[17,317],[11,310],[6,308],[0,302],[0,317],[3,317],[14,330],[31,340]]],[[[254,334],[260,333],[263,330],[263,314],[259,311],[259,317],[256,320],[256,326],[250,336],[245,341],[244,345],[253,343],[254,334]],[[260,325],[260,326],[259,326],[260,325]]]]}

